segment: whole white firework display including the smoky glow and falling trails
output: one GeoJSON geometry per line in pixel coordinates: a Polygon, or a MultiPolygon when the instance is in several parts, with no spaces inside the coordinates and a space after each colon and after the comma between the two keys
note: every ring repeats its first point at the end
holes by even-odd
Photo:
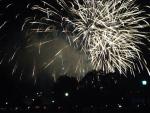
{"type": "MultiPolygon", "coordinates": [[[[69,73],[80,79],[90,70],[134,75],[146,69],[150,75],[141,51],[141,46],[147,47],[144,42],[150,42],[148,32],[144,31],[149,29],[150,15],[141,10],[135,0],[55,2],[55,5],[46,1],[26,5],[39,13],[25,19],[21,28],[26,32],[24,47],[15,49],[10,61],[19,51],[27,51],[28,57],[34,56],[32,76],[41,69],[50,70],[54,78],[69,73]]],[[[7,21],[0,27],[5,24],[7,21]]],[[[12,73],[19,67],[17,64],[12,73]]]]}

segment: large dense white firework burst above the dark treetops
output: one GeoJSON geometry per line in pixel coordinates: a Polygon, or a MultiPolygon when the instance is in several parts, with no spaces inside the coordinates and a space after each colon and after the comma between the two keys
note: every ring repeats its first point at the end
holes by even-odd
{"type": "Polygon", "coordinates": [[[149,42],[148,33],[141,30],[150,26],[149,15],[140,10],[134,0],[57,0],[60,11],[42,2],[43,7],[35,5],[32,9],[46,16],[39,21],[28,18],[24,25],[38,24],[38,28],[32,29],[37,32],[49,32],[52,23],[60,25],[70,46],[87,56],[93,70],[104,73],[117,70],[125,75],[143,68],[149,72],[140,50],[140,45],[144,45],[142,40],[149,42]]]}

